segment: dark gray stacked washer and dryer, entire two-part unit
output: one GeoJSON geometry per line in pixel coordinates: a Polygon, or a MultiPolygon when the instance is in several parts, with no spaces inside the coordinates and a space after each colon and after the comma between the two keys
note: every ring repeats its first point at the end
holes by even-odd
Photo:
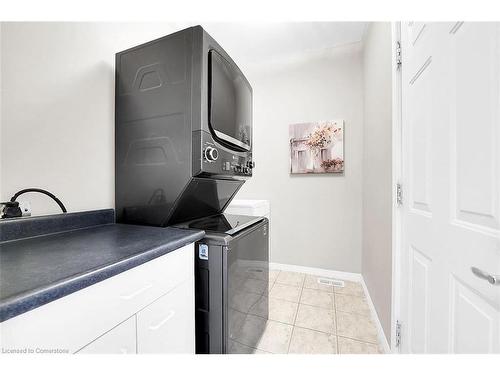
{"type": "Polygon", "coordinates": [[[200,26],[116,54],[116,221],[206,232],[195,253],[197,353],[259,339],[242,300],[260,296],[267,318],[265,291],[242,286],[268,286],[268,218],[229,206],[253,174],[252,146],[252,88],[200,26]]]}

